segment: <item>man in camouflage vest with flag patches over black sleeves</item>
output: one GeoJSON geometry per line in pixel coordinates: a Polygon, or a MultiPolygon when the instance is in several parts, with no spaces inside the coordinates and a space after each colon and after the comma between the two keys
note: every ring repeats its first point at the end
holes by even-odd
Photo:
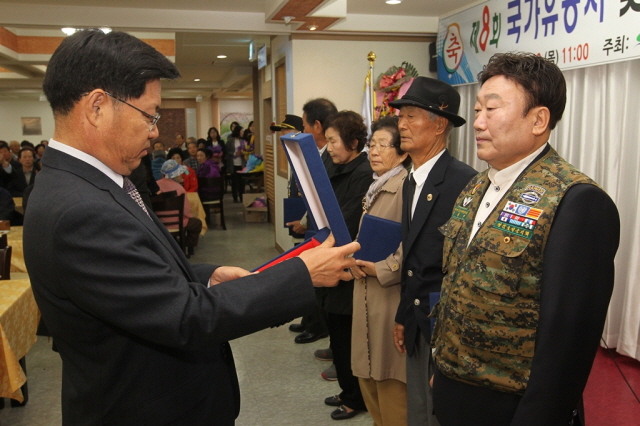
{"type": "Polygon", "coordinates": [[[440,228],[447,275],[432,313],[436,416],[442,426],[582,424],[618,212],[548,144],[566,102],[556,65],[497,54],[478,81],[478,158],[491,167],[440,228]]]}

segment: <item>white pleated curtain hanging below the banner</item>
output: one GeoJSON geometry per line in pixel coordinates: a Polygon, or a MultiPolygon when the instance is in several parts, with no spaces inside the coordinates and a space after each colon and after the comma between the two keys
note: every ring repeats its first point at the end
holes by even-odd
{"type": "MultiPolygon", "coordinates": [[[[568,70],[564,75],[567,105],[549,142],[618,206],[620,248],[603,337],[607,346],[640,360],[640,60],[568,70]]],[[[473,132],[479,85],[457,89],[460,115],[467,124],[452,132],[449,148],[458,159],[484,170],[488,165],[476,157],[473,132]]]]}

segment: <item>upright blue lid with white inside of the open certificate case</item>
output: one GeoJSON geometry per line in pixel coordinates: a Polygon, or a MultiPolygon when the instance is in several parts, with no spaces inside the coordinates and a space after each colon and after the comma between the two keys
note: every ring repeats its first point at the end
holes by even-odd
{"type": "Polygon", "coordinates": [[[318,229],[330,229],[336,246],[349,244],[349,230],[313,136],[309,133],[290,133],[281,136],[280,141],[295,171],[307,211],[311,212],[318,229]]]}

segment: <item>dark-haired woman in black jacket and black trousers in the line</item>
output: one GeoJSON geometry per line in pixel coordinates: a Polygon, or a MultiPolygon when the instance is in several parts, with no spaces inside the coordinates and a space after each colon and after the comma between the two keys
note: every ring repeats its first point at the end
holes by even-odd
{"type": "MultiPolygon", "coordinates": [[[[362,199],[371,184],[372,170],[367,154],[362,152],[367,140],[367,127],[362,117],[353,111],[341,111],[325,123],[327,152],[336,165],[331,186],[351,239],[358,233],[362,216],[362,199]]],[[[330,347],[336,367],[339,395],[325,399],[325,404],[338,407],[331,418],[349,419],[366,410],[358,379],[351,371],[351,315],[353,311],[353,280],[340,281],[320,295],[327,312],[330,347]]]]}

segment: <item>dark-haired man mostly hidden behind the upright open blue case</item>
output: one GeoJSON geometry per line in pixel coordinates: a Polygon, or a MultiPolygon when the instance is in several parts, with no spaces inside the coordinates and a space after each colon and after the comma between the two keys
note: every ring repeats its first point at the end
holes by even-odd
{"type": "MultiPolygon", "coordinates": [[[[316,141],[316,146],[318,147],[318,152],[320,153],[320,158],[322,158],[322,163],[327,170],[329,178],[333,176],[336,166],[333,164],[333,160],[331,159],[329,152],[327,152],[327,139],[324,136],[324,123],[329,116],[337,112],[338,109],[334,103],[325,98],[312,99],[302,106],[301,124],[303,126],[303,131],[313,135],[313,139],[316,141]]],[[[286,225],[291,226],[292,231],[296,234],[304,235],[307,228],[309,228],[309,216],[307,214],[302,218],[302,220],[289,222],[286,225]]],[[[325,294],[322,289],[318,289],[316,293],[319,299],[325,294]]],[[[305,316],[300,324],[291,324],[289,326],[289,330],[300,333],[294,338],[296,343],[311,343],[328,336],[329,330],[324,318],[325,314],[320,305],[321,304],[319,303],[315,312],[305,316]]],[[[323,377],[325,376],[326,375],[323,375],[323,377]]],[[[331,373],[331,377],[329,378],[333,379],[333,373],[331,373]]]]}

